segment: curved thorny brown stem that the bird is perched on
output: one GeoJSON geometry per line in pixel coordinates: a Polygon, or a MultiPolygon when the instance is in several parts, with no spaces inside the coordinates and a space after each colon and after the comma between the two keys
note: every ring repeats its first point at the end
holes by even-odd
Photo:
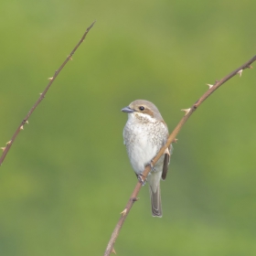
{"type": "MultiPolygon", "coordinates": [[[[249,61],[247,61],[246,63],[244,63],[243,65],[240,66],[240,68],[235,69],[234,71],[232,71],[231,73],[229,73],[229,75],[227,75],[226,77],[224,77],[222,80],[217,80],[216,83],[214,85],[208,85],[209,89],[206,93],[203,94],[203,96],[196,101],[196,103],[194,103],[192,105],[191,108],[186,109],[186,110],[182,110],[185,112],[185,116],[181,119],[181,121],[176,125],[176,128],[174,129],[174,131],[169,135],[166,144],[161,148],[161,150],[158,152],[158,154],[155,156],[155,158],[152,161],[152,165],[155,165],[155,163],[159,160],[159,158],[161,157],[161,155],[163,155],[165,153],[165,149],[172,144],[173,142],[175,142],[176,140],[176,135],[179,133],[179,131],[181,130],[181,128],[183,127],[183,125],[187,122],[187,119],[191,116],[191,114],[193,112],[195,112],[197,110],[197,108],[199,107],[199,105],[205,101],[208,96],[210,94],[212,94],[214,91],[216,91],[223,83],[225,83],[227,80],[231,79],[232,77],[234,77],[236,74],[239,74],[241,76],[241,72],[243,69],[251,69],[251,63],[254,62],[256,60],[256,56],[254,56],[253,58],[251,58],[249,61]]],[[[144,168],[144,173],[143,176],[144,178],[149,174],[149,172],[151,171],[151,166],[147,165],[144,168]]],[[[121,218],[118,220],[115,228],[113,229],[112,232],[112,237],[107,245],[106,251],[104,252],[104,256],[108,256],[112,253],[113,251],[113,245],[115,243],[115,240],[117,239],[119,232],[123,226],[123,222],[126,219],[128,213],[130,212],[131,208],[133,207],[133,203],[137,200],[137,195],[140,191],[142,187],[142,184],[140,182],[137,183],[136,187],[133,190],[133,194],[130,197],[126,207],[124,208],[123,212],[121,213],[122,216],[121,218]]]]}

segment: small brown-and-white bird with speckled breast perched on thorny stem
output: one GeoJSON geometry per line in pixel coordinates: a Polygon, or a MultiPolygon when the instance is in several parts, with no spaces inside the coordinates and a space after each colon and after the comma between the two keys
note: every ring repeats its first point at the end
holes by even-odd
{"type": "Polygon", "coordinates": [[[165,180],[167,175],[172,144],[165,149],[164,155],[160,157],[155,166],[151,161],[167,141],[169,136],[167,125],[151,101],[133,101],[124,107],[122,112],[128,113],[128,120],[123,129],[123,144],[125,144],[131,165],[139,181],[142,182],[145,166],[151,165],[152,169],[147,176],[147,182],[152,216],[161,218],[163,213],[160,180],[161,178],[165,180]]]}

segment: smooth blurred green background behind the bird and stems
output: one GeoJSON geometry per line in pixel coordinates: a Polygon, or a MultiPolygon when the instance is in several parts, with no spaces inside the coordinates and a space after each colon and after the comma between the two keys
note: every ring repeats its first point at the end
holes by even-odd
{"type": "MultiPolygon", "coordinates": [[[[1,1],[0,146],[97,22],[0,168],[0,255],[102,255],[136,184],[120,110],[153,101],[172,131],[206,83],[255,54],[255,9],[253,0],[1,1]]],[[[144,187],[118,255],[256,255],[255,84],[246,69],[193,114],[161,184],[163,218],[151,217],[144,187]]]]}

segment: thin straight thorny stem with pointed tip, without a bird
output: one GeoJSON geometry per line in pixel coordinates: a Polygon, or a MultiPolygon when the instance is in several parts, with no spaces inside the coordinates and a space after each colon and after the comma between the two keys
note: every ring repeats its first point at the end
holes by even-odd
{"type": "Polygon", "coordinates": [[[28,118],[30,117],[30,115],[36,110],[38,104],[45,98],[46,93],[48,92],[48,89],[50,88],[51,84],[53,83],[53,81],[58,77],[59,72],[65,67],[65,65],[67,64],[67,62],[72,59],[72,56],[74,55],[75,51],[77,50],[77,48],[80,47],[80,44],[84,41],[86,35],[88,34],[88,32],[90,31],[91,27],[93,27],[93,25],[95,24],[96,20],[92,22],[91,26],[88,27],[85,31],[85,33],[83,34],[83,36],[80,38],[79,43],[76,45],[75,48],[72,49],[72,51],[70,52],[69,56],[67,59],[65,59],[65,61],[61,64],[61,66],[59,67],[59,69],[57,69],[53,75],[53,77],[49,78],[49,82],[48,82],[48,86],[46,87],[45,91],[43,91],[42,93],[40,93],[40,97],[39,99],[36,101],[36,103],[34,104],[34,106],[31,108],[31,110],[27,113],[26,117],[23,119],[23,121],[18,125],[16,132],[14,133],[12,139],[6,143],[5,147],[1,147],[1,149],[4,151],[1,158],[0,158],[0,166],[2,165],[2,163],[5,160],[5,156],[7,155],[7,153],[9,152],[12,144],[14,144],[15,140],[16,140],[16,136],[17,134],[24,129],[24,125],[25,123],[28,123],[28,118]]]}

